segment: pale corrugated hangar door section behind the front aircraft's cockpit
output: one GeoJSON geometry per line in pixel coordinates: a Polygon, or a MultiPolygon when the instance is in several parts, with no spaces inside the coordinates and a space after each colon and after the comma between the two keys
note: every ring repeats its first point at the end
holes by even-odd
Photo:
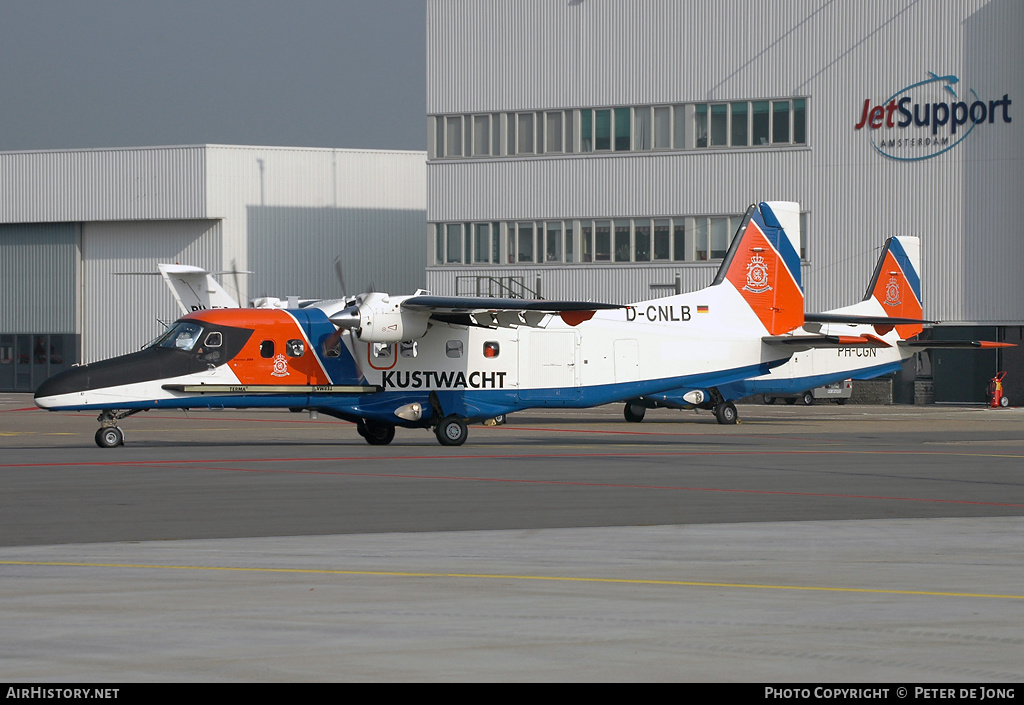
{"type": "Polygon", "coordinates": [[[220,231],[219,220],[85,223],[82,362],[137,350],[180,317],[157,264],[219,271],[220,231]]]}

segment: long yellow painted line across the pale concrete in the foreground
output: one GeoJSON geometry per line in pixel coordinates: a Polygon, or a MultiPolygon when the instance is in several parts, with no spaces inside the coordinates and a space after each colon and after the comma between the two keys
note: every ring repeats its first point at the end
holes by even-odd
{"type": "Polygon", "coordinates": [[[407,573],[400,571],[340,571],[319,568],[240,568],[231,566],[158,566],[147,564],[73,563],[61,561],[0,561],[0,566],[46,566],[73,568],[125,568],[168,571],[214,571],[223,573],[279,573],[293,575],[360,575],[387,578],[461,578],[469,580],[537,580],[548,582],[604,583],[621,585],[667,585],[673,587],[728,587],[746,590],[802,590],[814,592],[856,592],[866,594],[927,595],[936,597],[989,597],[1024,599],[1022,594],[984,592],[943,592],[938,590],[894,590],[868,587],[826,587],[821,585],[759,585],[757,583],[718,583],[693,580],[653,580],[638,578],[580,578],[552,575],[493,575],[485,573],[407,573]]]}

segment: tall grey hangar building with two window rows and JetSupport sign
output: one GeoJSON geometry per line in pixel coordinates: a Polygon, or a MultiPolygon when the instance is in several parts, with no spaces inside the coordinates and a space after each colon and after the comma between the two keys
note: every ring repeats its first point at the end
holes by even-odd
{"type": "MultiPolygon", "coordinates": [[[[809,310],[915,235],[935,337],[1020,341],[1022,28],[1012,0],[428,0],[428,288],[695,290],[750,203],[786,200],[809,310]]],[[[908,368],[897,401],[931,374],[981,401],[1006,369],[1024,402],[1024,348],[908,368]]]]}

